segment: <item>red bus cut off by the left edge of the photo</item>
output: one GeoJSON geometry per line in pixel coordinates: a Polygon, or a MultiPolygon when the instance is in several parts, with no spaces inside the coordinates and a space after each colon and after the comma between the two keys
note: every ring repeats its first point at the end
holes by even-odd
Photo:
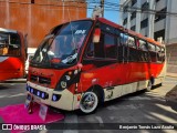
{"type": "Polygon", "coordinates": [[[0,82],[25,75],[25,53],[22,33],[0,28],[0,82]]]}

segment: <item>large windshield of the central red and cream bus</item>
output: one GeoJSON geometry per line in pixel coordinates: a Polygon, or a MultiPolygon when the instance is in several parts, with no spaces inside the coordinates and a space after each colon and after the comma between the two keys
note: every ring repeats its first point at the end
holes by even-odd
{"type": "Polygon", "coordinates": [[[91,29],[92,21],[67,23],[55,35],[48,35],[37,50],[32,62],[73,64],[91,29]]]}

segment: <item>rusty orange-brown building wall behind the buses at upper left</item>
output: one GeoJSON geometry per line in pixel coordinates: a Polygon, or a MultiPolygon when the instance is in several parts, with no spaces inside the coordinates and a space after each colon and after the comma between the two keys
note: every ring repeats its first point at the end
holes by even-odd
{"type": "Polygon", "coordinates": [[[1,0],[1,28],[21,31],[37,48],[53,27],[86,18],[85,0],[1,0]]]}

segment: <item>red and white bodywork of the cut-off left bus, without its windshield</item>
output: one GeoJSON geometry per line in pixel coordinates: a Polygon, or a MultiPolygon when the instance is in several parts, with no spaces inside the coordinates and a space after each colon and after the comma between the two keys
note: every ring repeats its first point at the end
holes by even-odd
{"type": "MultiPolygon", "coordinates": [[[[11,50],[9,55],[3,54],[3,45],[7,43],[1,43],[1,54],[0,55],[0,81],[23,78],[24,72],[24,62],[25,62],[25,49],[24,38],[21,32],[15,30],[8,30],[0,28],[1,34],[15,34],[20,42],[20,50],[11,50]]],[[[9,39],[10,40],[10,39],[9,39]]],[[[11,40],[10,40],[11,41],[11,40]]]]}

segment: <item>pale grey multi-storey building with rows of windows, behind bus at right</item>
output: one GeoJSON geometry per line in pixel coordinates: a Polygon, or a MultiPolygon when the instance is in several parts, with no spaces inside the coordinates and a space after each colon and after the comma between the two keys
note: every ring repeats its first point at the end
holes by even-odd
{"type": "Polygon", "coordinates": [[[177,0],[121,0],[121,24],[167,47],[168,72],[177,73],[177,0]]]}

